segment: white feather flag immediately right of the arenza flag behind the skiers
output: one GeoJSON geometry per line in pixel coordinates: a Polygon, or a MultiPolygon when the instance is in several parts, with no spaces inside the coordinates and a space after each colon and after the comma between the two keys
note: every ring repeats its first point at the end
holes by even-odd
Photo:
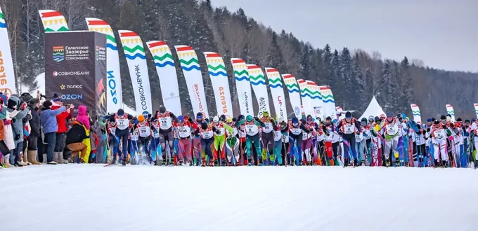
{"type": "Polygon", "coordinates": [[[254,116],[254,109],[252,107],[252,92],[249,81],[249,72],[243,59],[232,58],[235,88],[238,90],[238,101],[240,106],[240,113],[244,116],[254,116]]]}

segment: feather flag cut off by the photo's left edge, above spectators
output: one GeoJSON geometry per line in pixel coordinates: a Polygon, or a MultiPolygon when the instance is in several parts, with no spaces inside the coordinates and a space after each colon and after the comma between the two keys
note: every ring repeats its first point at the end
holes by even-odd
{"type": "Polygon", "coordinates": [[[6,30],[4,13],[0,8],[0,92],[7,92],[8,95],[17,93],[15,88],[15,70],[6,30]]]}

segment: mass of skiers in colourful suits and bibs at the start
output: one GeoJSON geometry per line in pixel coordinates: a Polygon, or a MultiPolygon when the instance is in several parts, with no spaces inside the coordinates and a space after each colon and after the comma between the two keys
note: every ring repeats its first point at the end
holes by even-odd
{"type": "Polygon", "coordinates": [[[103,117],[109,165],[340,165],[478,166],[478,122],[451,116],[415,123],[404,114],[283,118],[176,116],[160,107],[154,115],[122,109],[103,117]],[[474,144],[474,145],[472,145],[474,144]]]}

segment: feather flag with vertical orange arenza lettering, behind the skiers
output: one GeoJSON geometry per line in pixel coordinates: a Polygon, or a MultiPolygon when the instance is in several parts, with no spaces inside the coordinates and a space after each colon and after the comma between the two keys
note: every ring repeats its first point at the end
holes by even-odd
{"type": "Polygon", "coordinates": [[[229,90],[226,64],[224,64],[224,60],[218,53],[204,52],[204,56],[206,57],[207,71],[209,72],[212,89],[216,98],[217,114],[233,117],[233,104],[231,101],[231,91],[229,90]]]}

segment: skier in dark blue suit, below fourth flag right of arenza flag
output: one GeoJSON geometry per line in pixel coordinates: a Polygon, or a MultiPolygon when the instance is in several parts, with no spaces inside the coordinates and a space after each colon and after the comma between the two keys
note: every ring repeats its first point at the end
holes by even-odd
{"type": "Polygon", "coordinates": [[[299,119],[297,117],[292,118],[289,121],[289,153],[291,150],[294,149],[294,143],[297,142],[297,153],[295,156],[289,154],[290,156],[290,165],[294,164],[295,158],[295,165],[302,165],[302,137],[303,132],[309,133],[311,132],[308,130],[303,123],[299,123],[299,119]]]}

